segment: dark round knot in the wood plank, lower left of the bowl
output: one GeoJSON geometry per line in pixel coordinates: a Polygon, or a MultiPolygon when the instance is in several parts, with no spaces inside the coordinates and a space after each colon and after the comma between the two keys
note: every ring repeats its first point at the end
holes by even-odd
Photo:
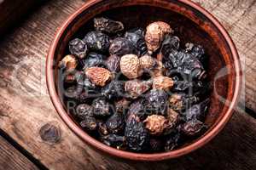
{"type": "Polygon", "coordinates": [[[50,123],[46,123],[43,127],[41,127],[39,134],[41,139],[50,144],[55,144],[61,139],[61,129],[50,123]]]}

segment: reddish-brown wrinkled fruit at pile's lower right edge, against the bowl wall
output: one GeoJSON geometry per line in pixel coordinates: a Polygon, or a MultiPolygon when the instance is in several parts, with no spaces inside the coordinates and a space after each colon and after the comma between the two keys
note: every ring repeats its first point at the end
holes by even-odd
{"type": "Polygon", "coordinates": [[[185,122],[181,128],[182,132],[189,136],[195,136],[200,133],[201,130],[206,127],[203,122],[197,119],[192,119],[189,122],[185,122]]]}

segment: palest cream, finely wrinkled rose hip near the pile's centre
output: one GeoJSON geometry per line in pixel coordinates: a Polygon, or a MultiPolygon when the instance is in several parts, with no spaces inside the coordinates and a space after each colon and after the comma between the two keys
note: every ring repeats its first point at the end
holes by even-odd
{"type": "Polygon", "coordinates": [[[142,69],[137,55],[126,54],[122,56],[120,70],[129,79],[140,77],[142,75],[142,69]]]}

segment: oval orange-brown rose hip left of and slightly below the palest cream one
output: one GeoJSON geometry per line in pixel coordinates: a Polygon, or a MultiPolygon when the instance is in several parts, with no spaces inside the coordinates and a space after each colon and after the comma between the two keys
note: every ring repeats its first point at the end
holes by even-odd
{"type": "Polygon", "coordinates": [[[90,79],[90,82],[102,87],[111,78],[111,72],[102,67],[90,67],[85,70],[85,75],[90,79]]]}

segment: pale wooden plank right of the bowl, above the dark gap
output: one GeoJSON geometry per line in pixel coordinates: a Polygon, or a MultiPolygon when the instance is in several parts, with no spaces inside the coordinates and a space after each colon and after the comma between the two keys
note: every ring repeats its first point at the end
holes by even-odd
{"type": "Polygon", "coordinates": [[[229,31],[236,43],[246,80],[241,103],[256,111],[256,1],[193,1],[207,8],[229,31]]]}

